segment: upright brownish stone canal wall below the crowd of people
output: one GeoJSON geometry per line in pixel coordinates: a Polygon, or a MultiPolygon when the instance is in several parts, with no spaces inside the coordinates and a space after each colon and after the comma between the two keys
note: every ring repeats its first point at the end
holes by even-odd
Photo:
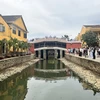
{"type": "Polygon", "coordinates": [[[65,59],[100,74],[100,62],[72,54],[66,54],[65,59]]]}

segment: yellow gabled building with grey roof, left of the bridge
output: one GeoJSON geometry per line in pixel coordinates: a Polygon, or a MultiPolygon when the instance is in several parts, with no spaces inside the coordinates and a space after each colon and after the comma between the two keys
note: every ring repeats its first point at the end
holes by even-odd
{"type": "Polygon", "coordinates": [[[27,28],[21,15],[0,15],[0,40],[10,37],[19,41],[27,41],[27,28]]]}

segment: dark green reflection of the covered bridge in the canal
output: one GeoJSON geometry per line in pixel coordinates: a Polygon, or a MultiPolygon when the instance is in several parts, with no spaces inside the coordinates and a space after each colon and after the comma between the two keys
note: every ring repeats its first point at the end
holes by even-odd
{"type": "Polygon", "coordinates": [[[42,78],[71,76],[72,71],[59,60],[41,60],[35,64],[34,75],[42,78]]]}

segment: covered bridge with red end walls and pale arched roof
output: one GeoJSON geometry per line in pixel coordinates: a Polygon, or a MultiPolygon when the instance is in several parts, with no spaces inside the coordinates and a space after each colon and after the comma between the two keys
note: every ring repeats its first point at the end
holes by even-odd
{"type": "Polygon", "coordinates": [[[62,58],[67,49],[81,48],[79,41],[67,41],[63,38],[39,38],[29,42],[31,44],[30,52],[35,53],[36,57],[48,59],[49,57],[62,58]]]}

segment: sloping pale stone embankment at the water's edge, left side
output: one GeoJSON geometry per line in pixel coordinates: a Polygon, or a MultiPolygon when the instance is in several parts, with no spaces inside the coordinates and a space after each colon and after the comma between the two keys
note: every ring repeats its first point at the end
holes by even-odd
{"type": "Polygon", "coordinates": [[[37,61],[39,61],[39,59],[33,59],[28,62],[24,62],[22,64],[19,64],[19,65],[16,65],[16,66],[13,66],[13,67],[10,67],[10,68],[7,68],[7,69],[1,71],[0,72],[0,81],[3,81],[16,73],[21,73],[24,69],[32,66],[37,61]]]}

